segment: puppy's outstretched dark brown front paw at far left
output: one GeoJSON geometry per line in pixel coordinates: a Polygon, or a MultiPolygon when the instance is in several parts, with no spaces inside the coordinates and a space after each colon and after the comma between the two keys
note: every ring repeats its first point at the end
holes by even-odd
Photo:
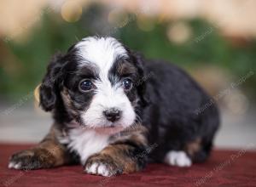
{"type": "Polygon", "coordinates": [[[48,168],[54,164],[54,158],[48,150],[38,148],[22,150],[15,153],[9,159],[9,168],[14,169],[39,169],[48,168]]]}

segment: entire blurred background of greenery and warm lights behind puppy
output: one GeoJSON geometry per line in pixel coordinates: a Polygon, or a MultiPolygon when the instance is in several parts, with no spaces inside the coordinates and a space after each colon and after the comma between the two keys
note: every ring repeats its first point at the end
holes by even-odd
{"type": "Polygon", "coordinates": [[[256,1],[0,2],[0,143],[35,143],[51,125],[35,88],[51,55],[91,35],[177,64],[221,109],[218,148],[256,142],[256,1]]]}

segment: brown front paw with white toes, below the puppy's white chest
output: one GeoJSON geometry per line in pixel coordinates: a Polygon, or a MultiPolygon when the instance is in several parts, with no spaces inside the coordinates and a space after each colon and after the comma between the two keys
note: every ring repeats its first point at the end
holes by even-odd
{"type": "Polygon", "coordinates": [[[96,155],[90,158],[84,164],[86,173],[111,177],[123,173],[123,167],[114,161],[111,156],[96,155]]]}

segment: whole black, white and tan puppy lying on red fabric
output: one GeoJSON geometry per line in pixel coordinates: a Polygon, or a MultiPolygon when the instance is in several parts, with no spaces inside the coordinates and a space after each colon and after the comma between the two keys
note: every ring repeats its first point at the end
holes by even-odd
{"type": "Polygon", "coordinates": [[[40,144],[11,156],[9,168],[79,162],[86,173],[113,176],[152,161],[189,167],[207,159],[218,129],[217,107],[191,77],[113,37],[86,37],[56,54],[39,94],[54,124],[40,144]]]}

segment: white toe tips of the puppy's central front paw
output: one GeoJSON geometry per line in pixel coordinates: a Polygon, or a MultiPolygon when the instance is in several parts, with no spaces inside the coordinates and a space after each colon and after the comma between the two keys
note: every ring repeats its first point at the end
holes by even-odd
{"type": "Polygon", "coordinates": [[[90,165],[90,167],[85,168],[85,172],[90,174],[102,175],[105,177],[110,177],[113,175],[113,173],[108,170],[108,167],[102,163],[93,163],[92,165],[90,165]]]}

